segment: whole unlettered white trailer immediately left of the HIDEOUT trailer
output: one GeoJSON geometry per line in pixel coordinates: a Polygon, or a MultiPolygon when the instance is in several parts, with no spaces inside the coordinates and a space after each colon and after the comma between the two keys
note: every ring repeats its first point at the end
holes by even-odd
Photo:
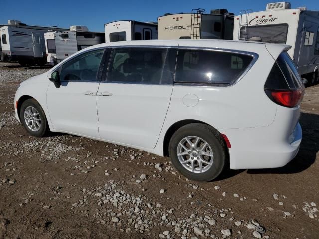
{"type": "Polygon", "coordinates": [[[158,26],[152,22],[114,21],[104,27],[106,42],[158,39],[158,26]]]}

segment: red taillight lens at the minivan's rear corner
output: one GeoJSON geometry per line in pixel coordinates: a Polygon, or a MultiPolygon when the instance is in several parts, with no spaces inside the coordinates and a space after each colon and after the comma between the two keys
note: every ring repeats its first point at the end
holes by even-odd
{"type": "Polygon", "coordinates": [[[297,106],[304,96],[304,90],[267,90],[271,100],[285,107],[297,106]],[[270,94],[269,94],[270,93],[270,94]]]}

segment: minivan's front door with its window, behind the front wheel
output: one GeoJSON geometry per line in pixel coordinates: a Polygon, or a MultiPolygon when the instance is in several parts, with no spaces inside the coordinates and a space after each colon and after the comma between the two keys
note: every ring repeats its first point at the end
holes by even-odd
{"type": "Polygon", "coordinates": [[[50,83],[47,106],[56,131],[99,138],[96,109],[104,49],[88,51],[59,68],[60,83],[50,83]]]}

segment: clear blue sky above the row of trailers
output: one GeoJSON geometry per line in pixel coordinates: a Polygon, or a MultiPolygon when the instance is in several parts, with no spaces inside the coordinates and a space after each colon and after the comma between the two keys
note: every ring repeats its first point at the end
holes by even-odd
{"type": "MultiPolygon", "coordinates": [[[[280,0],[278,0],[280,1],[280,0]]],[[[0,24],[8,19],[28,25],[85,25],[90,31],[104,31],[104,24],[117,20],[157,21],[165,13],[190,12],[192,8],[226,8],[238,15],[241,9],[265,10],[265,0],[1,0],[0,24]]],[[[319,10],[318,0],[291,0],[292,8],[319,10]]]]}

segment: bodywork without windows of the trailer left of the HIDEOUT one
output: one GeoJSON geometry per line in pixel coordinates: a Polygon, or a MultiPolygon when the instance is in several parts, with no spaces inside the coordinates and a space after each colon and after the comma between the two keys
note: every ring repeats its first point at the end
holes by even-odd
{"type": "Polygon", "coordinates": [[[135,40],[136,33],[141,34],[140,40],[146,40],[146,31],[150,32],[151,39],[158,39],[157,25],[153,23],[138,22],[138,21],[115,21],[104,25],[105,29],[105,42],[111,42],[110,34],[117,32],[126,33],[126,41],[135,40]]]}

